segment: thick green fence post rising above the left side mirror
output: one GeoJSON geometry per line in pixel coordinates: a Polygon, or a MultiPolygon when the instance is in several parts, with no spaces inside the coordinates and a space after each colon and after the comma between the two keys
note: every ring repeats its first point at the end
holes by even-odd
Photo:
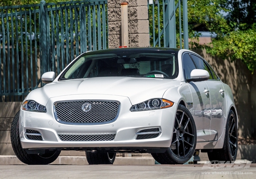
{"type": "Polygon", "coordinates": [[[47,72],[47,44],[46,44],[46,14],[45,14],[45,1],[40,1],[40,62],[42,65],[41,74],[47,72]]]}

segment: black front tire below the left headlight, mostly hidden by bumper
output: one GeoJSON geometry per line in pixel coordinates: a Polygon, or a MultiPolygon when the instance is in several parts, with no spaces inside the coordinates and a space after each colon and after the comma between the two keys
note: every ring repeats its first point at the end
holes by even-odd
{"type": "Polygon", "coordinates": [[[47,165],[54,162],[61,151],[58,150],[45,150],[44,154],[28,154],[25,149],[22,148],[19,138],[19,111],[15,115],[11,126],[11,143],[14,153],[17,158],[28,165],[47,165]]]}

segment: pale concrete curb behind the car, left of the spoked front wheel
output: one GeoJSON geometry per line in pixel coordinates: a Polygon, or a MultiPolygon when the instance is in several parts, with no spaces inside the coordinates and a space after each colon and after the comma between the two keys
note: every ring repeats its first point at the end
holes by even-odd
{"type": "MultiPolygon", "coordinates": [[[[53,165],[88,165],[85,156],[59,156],[53,165]]],[[[114,165],[154,165],[153,157],[116,157],[114,165]]],[[[0,155],[0,165],[25,165],[15,155],[0,155]]]]}

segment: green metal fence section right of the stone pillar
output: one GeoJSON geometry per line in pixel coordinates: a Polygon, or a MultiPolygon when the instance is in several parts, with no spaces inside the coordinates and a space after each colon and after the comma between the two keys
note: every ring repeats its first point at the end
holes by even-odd
{"type": "Polygon", "coordinates": [[[148,0],[150,45],[188,49],[187,0],[148,0]]]}

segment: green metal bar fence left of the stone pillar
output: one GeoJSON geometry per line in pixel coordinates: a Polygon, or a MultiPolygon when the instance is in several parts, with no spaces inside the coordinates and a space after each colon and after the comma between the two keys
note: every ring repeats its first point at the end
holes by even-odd
{"type": "Polygon", "coordinates": [[[107,0],[0,7],[0,102],[22,101],[79,54],[107,48],[107,0]]]}

